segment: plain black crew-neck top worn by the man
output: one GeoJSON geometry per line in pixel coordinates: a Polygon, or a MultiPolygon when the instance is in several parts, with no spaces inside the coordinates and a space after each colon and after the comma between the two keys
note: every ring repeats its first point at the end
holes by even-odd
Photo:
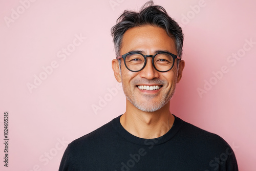
{"type": "Polygon", "coordinates": [[[60,163],[62,170],[238,170],[231,147],[175,116],[172,128],[156,139],[127,132],[120,116],[71,142],[60,163]]]}

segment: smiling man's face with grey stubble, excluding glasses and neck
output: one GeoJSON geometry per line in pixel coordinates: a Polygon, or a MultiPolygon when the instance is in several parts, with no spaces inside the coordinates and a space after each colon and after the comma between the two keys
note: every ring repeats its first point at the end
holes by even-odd
{"type": "MultiPolygon", "coordinates": [[[[164,29],[153,26],[135,27],[124,33],[120,54],[131,51],[141,51],[144,55],[167,51],[177,55],[174,40],[164,29]]],[[[118,72],[115,72],[115,76],[122,82],[124,94],[131,104],[141,111],[155,112],[169,102],[174,94],[176,82],[180,80],[177,80],[177,59],[172,70],[167,72],[155,70],[151,57],[147,57],[145,68],[139,72],[127,70],[123,59],[121,60],[121,75],[117,78],[118,72]],[[144,90],[148,86],[150,90],[144,90]]]]}

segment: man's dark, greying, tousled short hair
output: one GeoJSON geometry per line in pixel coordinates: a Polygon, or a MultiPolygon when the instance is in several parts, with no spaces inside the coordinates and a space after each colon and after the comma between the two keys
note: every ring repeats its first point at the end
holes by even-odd
{"type": "Polygon", "coordinates": [[[111,28],[116,57],[120,55],[122,37],[125,31],[144,25],[163,28],[170,37],[174,37],[177,55],[182,56],[183,33],[181,27],[167,14],[163,7],[154,5],[153,1],[148,1],[139,12],[125,10],[117,19],[117,24],[111,28]]]}

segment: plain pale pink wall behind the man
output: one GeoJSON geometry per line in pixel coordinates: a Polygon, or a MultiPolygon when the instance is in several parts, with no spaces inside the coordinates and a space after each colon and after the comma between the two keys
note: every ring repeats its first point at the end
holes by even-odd
{"type": "MultiPolygon", "coordinates": [[[[123,10],[138,10],[146,1],[28,2],[0,1],[0,169],[57,170],[68,143],[124,113],[125,97],[111,68],[115,53],[110,29],[123,10]],[[86,39],[74,46],[75,35],[86,39]],[[65,60],[62,48],[72,51],[65,60]],[[57,67],[48,67],[44,75],[42,68],[54,61],[57,67]],[[40,74],[45,80],[30,91],[27,84],[40,74]],[[2,161],[5,111],[8,168],[2,161]]],[[[155,1],[185,35],[185,69],[171,112],[223,137],[240,170],[254,170],[256,45],[246,41],[256,42],[256,3],[201,2],[155,1]],[[236,53],[242,57],[231,56],[236,53]],[[207,87],[205,81],[213,85],[207,87]],[[207,91],[200,96],[198,89],[204,86],[207,91]]]]}

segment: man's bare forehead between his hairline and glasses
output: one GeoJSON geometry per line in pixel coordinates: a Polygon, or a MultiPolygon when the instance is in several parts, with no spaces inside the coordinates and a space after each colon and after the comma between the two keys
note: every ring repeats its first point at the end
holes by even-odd
{"type": "Polygon", "coordinates": [[[164,50],[177,54],[174,39],[160,27],[142,26],[127,30],[122,38],[120,53],[124,54],[134,50],[145,53],[154,53],[164,50]]]}

